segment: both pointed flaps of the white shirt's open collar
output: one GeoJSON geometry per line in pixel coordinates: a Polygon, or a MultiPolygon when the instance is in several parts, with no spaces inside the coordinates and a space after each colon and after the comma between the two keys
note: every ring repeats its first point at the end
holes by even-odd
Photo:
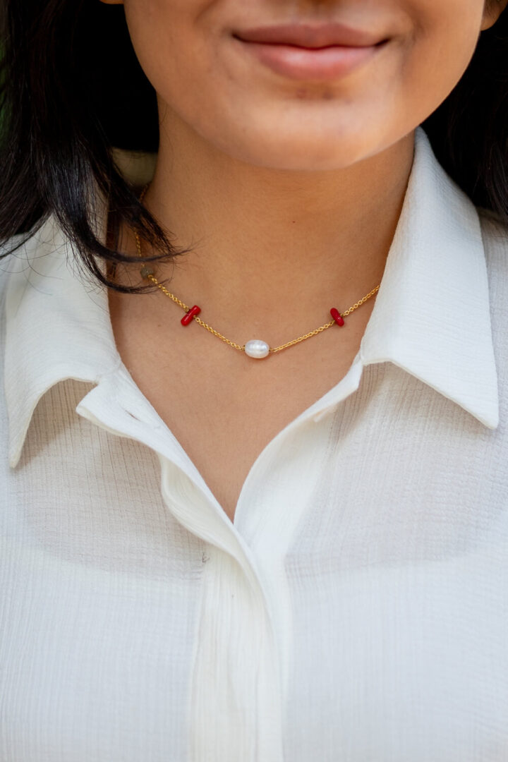
{"type": "MultiPolygon", "coordinates": [[[[101,200],[97,232],[103,241],[105,228],[101,200]]],[[[11,466],[18,463],[37,402],[48,389],[69,378],[100,383],[121,365],[107,293],[82,276],[76,261],[53,217],[10,259],[5,394],[11,466]]],[[[364,365],[395,363],[487,427],[497,426],[478,213],[439,166],[421,129],[360,357],[364,365]]]]}

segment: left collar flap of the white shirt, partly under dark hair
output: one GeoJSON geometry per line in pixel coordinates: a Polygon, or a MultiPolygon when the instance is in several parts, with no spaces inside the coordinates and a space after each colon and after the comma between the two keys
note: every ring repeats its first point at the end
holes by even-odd
{"type": "MultiPolygon", "coordinates": [[[[101,205],[97,231],[105,223],[101,205]]],[[[77,263],[53,216],[8,261],[4,377],[11,466],[37,402],[52,386],[64,379],[99,383],[121,363],[107,292],[77,263]]]]}

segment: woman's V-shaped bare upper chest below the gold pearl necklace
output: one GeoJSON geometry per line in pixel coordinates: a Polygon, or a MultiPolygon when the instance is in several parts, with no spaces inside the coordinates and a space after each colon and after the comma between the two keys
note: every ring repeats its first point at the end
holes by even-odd
{"type": "Polygon", "coordinates": [[[263,360],[198,325],[158,325],[140,304],[110,294],[120,357],[233,520],[260,453],[349,370],[372,303],[347,328],[333,327],[263,360]]]}

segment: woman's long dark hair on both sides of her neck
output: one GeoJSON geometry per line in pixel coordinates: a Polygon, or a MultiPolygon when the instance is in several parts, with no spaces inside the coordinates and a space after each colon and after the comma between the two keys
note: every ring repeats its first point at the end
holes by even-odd
{"type": "MultiPolygon", "coordinates": [[[[117,229],[126,223],[158,256],[177,256],[112,152],[158,147],[155,91],[136,59],[123,6],[3,0],[0,77],[0,239],[31,235],[53,213],[79,261],[117,287],[98,263],[129,258],[117,251],[118,239],[107,248],[94,233],[97,184],[117,229]]],[[[465,75],[423,127],[471,200],[508,221],[507,14],[481,34],[465,75]]]]}

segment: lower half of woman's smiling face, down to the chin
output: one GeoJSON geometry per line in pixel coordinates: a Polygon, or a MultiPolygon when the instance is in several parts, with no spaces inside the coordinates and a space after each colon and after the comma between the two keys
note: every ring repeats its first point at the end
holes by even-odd
{"type": "Polygon", "coordinates": [[[505,4],[124,0],[162,130],[167,114],[244,162],[303,171],[351,165],[414,130],[505,4]]]}

